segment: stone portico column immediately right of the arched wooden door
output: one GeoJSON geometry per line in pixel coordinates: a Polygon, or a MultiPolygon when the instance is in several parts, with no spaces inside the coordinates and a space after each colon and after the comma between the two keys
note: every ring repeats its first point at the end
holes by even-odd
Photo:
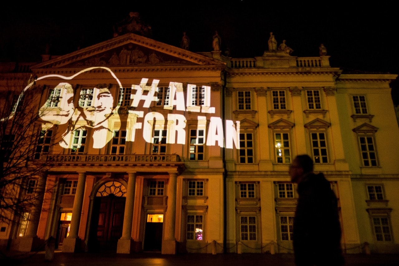
{"type": "Polygon", "coordinates": [[[132,223],[134,193],[136,190],[136,173],[128,173],[126,203],[123,216],[122,237],[118,240],[117,253],[130,254],[133,248],[132,223]]]}

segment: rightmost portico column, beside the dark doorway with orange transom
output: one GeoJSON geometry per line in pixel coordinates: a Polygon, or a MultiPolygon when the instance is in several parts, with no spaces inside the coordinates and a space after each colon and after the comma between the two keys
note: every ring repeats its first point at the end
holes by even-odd
{"type": "Polygon", "coordinates": [[[168,206],[166,209],[164,239],[162,240],[162,254],[176,254],[176,185],[177,173],[169,173],[168,206]]]}

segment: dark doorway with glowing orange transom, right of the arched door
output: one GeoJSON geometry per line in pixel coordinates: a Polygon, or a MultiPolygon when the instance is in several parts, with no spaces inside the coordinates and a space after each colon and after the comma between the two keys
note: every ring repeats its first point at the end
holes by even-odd
{"type": "Polygon", "coordinates": [[[147,214],[144,251],[161,251],[163,225],[163,214],[147,214]]]}

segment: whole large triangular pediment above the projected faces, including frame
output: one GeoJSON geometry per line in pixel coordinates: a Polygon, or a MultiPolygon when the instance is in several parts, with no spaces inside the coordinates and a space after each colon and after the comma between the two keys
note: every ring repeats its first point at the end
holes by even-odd
{"type": "Polygon", "coordinates": [[[73,67],[154,67],[166,65],[219,65],[221,61],[153,39],[127,33],[108,41],[58,56],[32,69],[73,67]]]}

